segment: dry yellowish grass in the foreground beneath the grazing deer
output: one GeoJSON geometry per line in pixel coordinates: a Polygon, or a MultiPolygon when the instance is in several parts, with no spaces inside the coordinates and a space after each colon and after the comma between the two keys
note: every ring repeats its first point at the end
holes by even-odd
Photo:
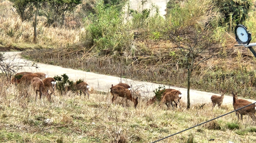
{"type": "MultiPolygon", "coordinates": [[[[189,110],[166,111],[157,104],[147,107],[144,101],[139,101],[134,109],[132,103],[128,107],[111,104],[108,93],[91,93],[90,100],[83,95],[57,94],[52,103],[45,98],[41,103],[35,102],[35,93],[31,90],[27,98],[18,98],[24,92],[0,80],[0,141],[6,143],[145,143],[233,109],[231,105],[224,105],[212,112],[211,106],[205,105],[203,109],[195,106],[189,110]]],[[[209,139],[218,143],[228,140],[253,143],[256,141],[253,126],[250,118],[237,122],[233,113],[161,142],[181,143],[192,137],[197,143],[208,143],[209,139]]]]}

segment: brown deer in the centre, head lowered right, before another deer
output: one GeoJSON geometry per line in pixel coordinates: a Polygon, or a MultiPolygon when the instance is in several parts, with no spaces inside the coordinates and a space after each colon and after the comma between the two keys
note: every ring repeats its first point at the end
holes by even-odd
{"type": "Polygon", "coordinates": [[[138,97],[133,98],[131,95],[131,91],[126,89],[125,87],[119,86],[119,85],[115,85],[113,86],[113,84],[111,85],[110,88],[110,92],[113,95],[112,103],[116,100],[117,97],[122,97],[125,98],[126,101],[130,100],[134,103],[134,107],[136,108],[138,105],[138,97]]]}

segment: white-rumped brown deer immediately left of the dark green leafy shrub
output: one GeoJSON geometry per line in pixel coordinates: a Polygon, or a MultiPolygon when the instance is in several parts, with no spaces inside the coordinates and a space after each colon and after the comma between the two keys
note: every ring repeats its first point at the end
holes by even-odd
{"type": "Polygon", "coordinates": [[[53,78],[46,78],[43,80],[44,82],[44,93],[47,94],[48,100],[51,101],[51,95],[54,93],[55,91],[55,87],[56,87],[56,81],[53,78]],[[48,90],[50,90],[50,94],[48,93],[48,90]]]}

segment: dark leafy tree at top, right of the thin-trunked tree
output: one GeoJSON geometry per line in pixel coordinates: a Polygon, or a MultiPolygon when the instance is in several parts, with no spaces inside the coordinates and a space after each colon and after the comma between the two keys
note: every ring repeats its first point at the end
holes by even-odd
{"type": "Polygon", "coordinates": [[[49,0],[51,9],[54,11],[53,20],[64,24],[64,18],[68,11],[73,11],[82,0],[49,0]]]}

